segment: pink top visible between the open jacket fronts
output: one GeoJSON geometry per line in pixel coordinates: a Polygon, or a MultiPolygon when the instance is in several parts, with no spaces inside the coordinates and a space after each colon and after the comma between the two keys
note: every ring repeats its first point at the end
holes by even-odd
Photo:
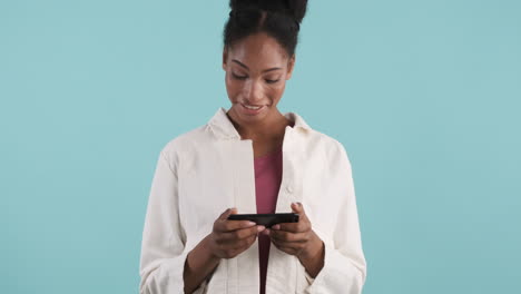
{"type": "MultiPolygon", "coordinates": [[[[273,153],[254,158],[254,167],[257,214],[273,214],[277,205],[277,195],[282,182],[282,146],[273,153]]],[[[268,236],[258,235],[260,294],[266,292],[269,245],[271,241],[268,236]]]]}

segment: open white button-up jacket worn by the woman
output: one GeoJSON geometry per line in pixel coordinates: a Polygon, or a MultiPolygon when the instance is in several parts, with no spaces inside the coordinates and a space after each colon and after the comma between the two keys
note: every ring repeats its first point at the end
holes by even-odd
{"type": "MultiPolygon", "coordinates": [[[[325,244],[324,267],[313,280],[298,258],[272,245],[266,293],[362,292],[366,263],[362,251],[351,164],[342,144],[287,112],[283,179],[276,213],[301,202],[312,228],[325,244]]],[[[148,199],[140,257],[141,294],[184,293],[186,255],[228,207],[255,214],[252,140],[242,140],[218,109],[208,124],[169,141],[159,154],[148,199]]],[[[222,259],[195,293],[259,292],[258,245],[222,259]]]]}

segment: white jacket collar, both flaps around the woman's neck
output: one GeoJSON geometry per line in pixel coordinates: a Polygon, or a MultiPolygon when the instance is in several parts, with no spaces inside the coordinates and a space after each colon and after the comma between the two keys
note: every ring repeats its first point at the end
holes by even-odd
{"type": "MultiPolygon", "coordinates": [[[[226,115],[226,109],[220,107],[214,117],[208,121],[207,126],[212,129],[218,139],[240,139],[240,135],[235,129],[232,120],[226,115]]],[[[295,112],[283,114],[287,119],[294,122],[294,129],[303,129],[305,131],[312,128],[304,121],[304,119],[295,112]]]]}

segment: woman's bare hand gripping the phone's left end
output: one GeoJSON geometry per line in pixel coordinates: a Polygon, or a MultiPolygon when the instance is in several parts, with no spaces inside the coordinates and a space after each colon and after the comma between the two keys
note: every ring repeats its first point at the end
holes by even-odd
{"type": "Polygon", "coordinates": [[[239,255],[252,246],[258,233],[265,228],[249,220],[228,220],[232,214],[237,214],[237,208],[226,209],[215,220],[208,236],[209,249],[215,257],[233,258],[239,255]]]}

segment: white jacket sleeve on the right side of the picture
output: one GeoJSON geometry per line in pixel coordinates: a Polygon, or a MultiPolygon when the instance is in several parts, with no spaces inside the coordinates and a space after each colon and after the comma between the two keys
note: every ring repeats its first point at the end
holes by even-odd
{"type": "Polygon", "coordinates": [[[306,292],[360,294],[365,283],[366,263],[362,251],[353,176],[344,147],[336,141],[334,149],[328,160],[333,193],[337,193],[337,198],[341,199],[336,206],[337,219],[333,238],[316,232],[324,242],[324,267],[314,280],[307,276],[311,286],[306,292]]]}

